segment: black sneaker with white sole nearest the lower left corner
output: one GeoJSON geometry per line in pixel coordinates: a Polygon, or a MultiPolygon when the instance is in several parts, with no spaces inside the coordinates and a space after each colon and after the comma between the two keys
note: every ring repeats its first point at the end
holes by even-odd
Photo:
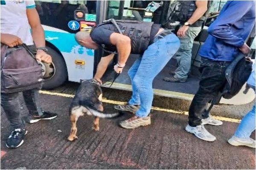
{"type": "Polygon", "coordinates": [[[24,136],[28,131],[26,129],[15,129],[6,139],[6,146],[9,148],[16,148],[23,144],[24,136]]]}

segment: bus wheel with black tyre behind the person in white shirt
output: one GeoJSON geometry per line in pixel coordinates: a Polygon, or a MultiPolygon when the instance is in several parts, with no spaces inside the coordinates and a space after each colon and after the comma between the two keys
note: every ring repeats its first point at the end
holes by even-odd
{"type": "Polygon", "coordinates": [[[42,66],[44,76],[43,89],[52,89],[62,85],[68,79],[67,65],[58,48],[50,42],[46,42],[46,46],[47,53],[52,56],[52,63],[39,62],[39,65],[42,66]]]}

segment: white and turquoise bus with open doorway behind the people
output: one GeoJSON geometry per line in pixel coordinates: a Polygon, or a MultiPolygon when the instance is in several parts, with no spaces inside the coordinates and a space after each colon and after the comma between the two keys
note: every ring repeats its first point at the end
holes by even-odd
{"type": "MultiPolygon", "coordinates": [[[[169,16],[170,7],[174,1],[136,1],[136,0],[41,0],[35,1],[36,9],[44,28],[48,53],[52,56],[52,63],[40,63],[44,75],[44,89],[52,89],[62,85],[66,80],[79,82],[80,79],[91,79],[96,72],[102,51],[91,50],[80,46],[74,35],[78,31],[90,29],[104,20],[143,20],[163,24],[169,16]],[[145,11],[151,7],[151,12],[145,11]]],[[[204,44],[208,33],[207,26],[218,17],[218,11],[226,1],[213,1],[209,10],[211,16],[198,37],[195,38],[192,49],[191,71],[187,82],[165,82],[164,77],[175,71],[177,61],[174,57],[154,79],[154,94],[178,99],[192,100],[199,87],[199,66],[201,57],[198,51],[204,44]]],[[[255,29],[247,39],[247,44],[253,49],[250,56],[255,57],[255,29]]],[[[115,80],[111,88],[131,91],[131,81],[128,69],[139,55],[131,54],[122,74],[115,80]]],[[[113,77],[113,63],[104,74],[102,80],[109,87],[108,81],[113,77]]],[[[245,87],[244,87],[245,88],[245,87]]],[[[232,99],[221,99],[221,104],[241,105],[254,99],[253,90],[243,94],[242,89],[232,99]]]]}

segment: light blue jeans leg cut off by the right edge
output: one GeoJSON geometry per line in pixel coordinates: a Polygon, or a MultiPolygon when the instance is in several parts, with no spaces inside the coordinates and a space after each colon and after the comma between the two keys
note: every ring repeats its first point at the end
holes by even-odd
{"type": "MultiPolygon", "coordinates": [[[[255,86],[252,87],[255,91],[255,86]]],[[[235,136],[242,139],[247,139],[250,137],[251,133],[255,130],[255,104],[253,109],[249,111],[239,124],[235,136]]]]}

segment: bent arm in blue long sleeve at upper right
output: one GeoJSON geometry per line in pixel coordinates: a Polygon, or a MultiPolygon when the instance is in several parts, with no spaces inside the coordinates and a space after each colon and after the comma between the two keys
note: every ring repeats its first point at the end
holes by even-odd
{"type": "Polygon", "coordinates": [[[251,8],[250,1],[232,1],[225,11],[221,11],[217,19],[209,26],[208,33],[223,42],[235,47],[242,47],[244,39],[236,36],[231,26],[240,20],[251,8]]]}

